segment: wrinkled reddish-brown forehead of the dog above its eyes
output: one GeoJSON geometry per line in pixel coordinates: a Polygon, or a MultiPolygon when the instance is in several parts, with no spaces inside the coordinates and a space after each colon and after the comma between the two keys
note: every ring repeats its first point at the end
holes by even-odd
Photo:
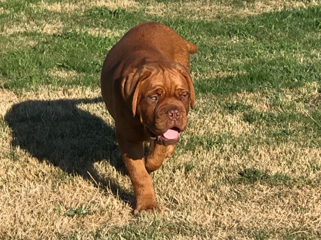
{"type": "Polygon", "coordinates": [[[187,89],[188,84],[182,74],[176,69],[157,69],[147,81],[143,81],[142,87],[148,89],[164,88],[165,91],[175,91],[177,89],[187,89]]]}

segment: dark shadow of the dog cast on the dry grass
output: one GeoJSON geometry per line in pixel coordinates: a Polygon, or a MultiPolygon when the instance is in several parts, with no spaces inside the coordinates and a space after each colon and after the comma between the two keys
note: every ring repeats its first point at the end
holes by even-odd
{"type": "Polygon", "coordinates": [[[74,100],[28,100],[13,105],[5,120],[13,131],[13,146],[29,152],[40,162],[48,161],[70,174],[110,188],[131,206],[134,196],[115,180],[100,176],[94,162],[106,159],[122,174],[125,167],[115,140],[115,131],[102,119],[77,104],[102,102],[101,98],[74,100]]]}

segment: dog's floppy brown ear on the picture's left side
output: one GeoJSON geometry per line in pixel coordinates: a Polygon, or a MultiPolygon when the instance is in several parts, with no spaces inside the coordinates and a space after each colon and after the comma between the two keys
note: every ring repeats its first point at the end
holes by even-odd
{"type": "Polygon", "coordinates": [[[136,115],[139,88],[143,80],[150,77],[155,68],[143,65],[135,68],[123,78],[121,83],[122,95],[129,107],[132,108],[133,116],[136,115]]]}

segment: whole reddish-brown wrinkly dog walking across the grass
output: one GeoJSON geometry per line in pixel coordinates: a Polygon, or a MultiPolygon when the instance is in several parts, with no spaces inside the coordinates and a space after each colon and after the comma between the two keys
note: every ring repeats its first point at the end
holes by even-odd
{"type": "Polygon", "coordinates": [[[193,108],[195,101],[189,54],[196,51],[195,44],[172,28],[147,22],[130,29],[104,61],[101,93],[115,119],[136,211],[160,211],[149,173],[173,155],[187,126],[189,106],[193,108]]]}

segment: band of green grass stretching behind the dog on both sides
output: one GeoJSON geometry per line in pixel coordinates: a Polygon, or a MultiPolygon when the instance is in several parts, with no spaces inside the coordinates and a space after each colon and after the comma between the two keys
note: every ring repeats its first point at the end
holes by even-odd
{"type": "MultiPolygon", "coordinates": [[[[160,21],[167,24],[183,37],[197,43],[199,53],[192,57],[192,71],[206,73],[209,70],[224,69],[246,72],[237,76],[209,77],[195,81],[197,93],[226,94],[241,90],[294,88],[306,82],[317,81],[321,77],[318,61],[299,63],[293,55],[308,55],[312,60],[317,57],[316,53],[309,53],[309,50],[321,47],[317,37],[321,29],[320,12],[320,7],[309,7],[270,12],[249,19],[196,21],[169,20],[152,17],[143,12],[127,13],[119,8],[111,11],[106,7],[92,7],[81,17],[72,17],[67,13],[65,18],[63,14],[60,17],[66,28],[70,24],[84,29],[102,27],[122,30],[143,21],[160,21]],[[232,37],[237,37],[239,42],[229,43],[232,37]],[[201,54],[202,57],[199,57],[201,54]]],[[[36,16],[45,18],[41,15],[36,16]]],[[[119,40],[118,37],[103,38],[77,34],[74,30],[38,37],[45,40],[31,49],[28,47],[2,55],[0,66],[1,75],[5,78],[4,88],[32,89],[38,83],[61,85],[61,82],[49,76],[38,81],[44,71],[55,66],[87,74],[97,73],[107,49],[119,40]],[[17,78],[21,80],[21,76],[25,79],[19,82],[17,78]]],[[[91,78],[72,84],[98,85],[91,78]]]]}

